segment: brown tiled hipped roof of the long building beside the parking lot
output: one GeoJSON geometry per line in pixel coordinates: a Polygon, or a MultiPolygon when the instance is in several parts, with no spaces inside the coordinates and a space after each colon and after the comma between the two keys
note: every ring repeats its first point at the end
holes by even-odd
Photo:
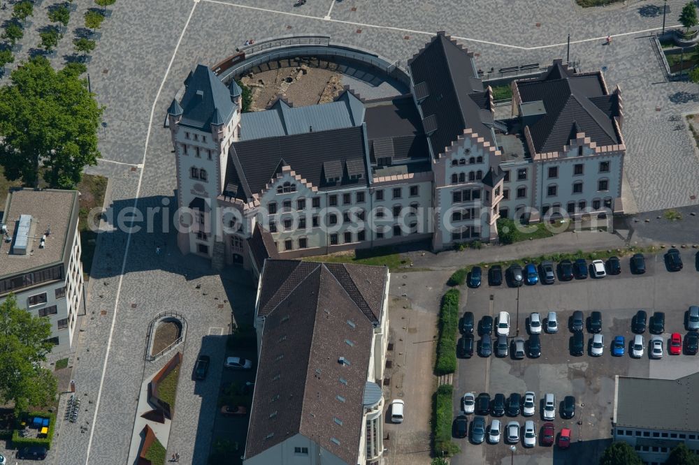
{"type": "Polygon", "coordinates": [[[245,457],[302,434],[357,463],[374,322],[361,306],[380,306],[387,274],[385,267],[267,260],[245,457]]]}

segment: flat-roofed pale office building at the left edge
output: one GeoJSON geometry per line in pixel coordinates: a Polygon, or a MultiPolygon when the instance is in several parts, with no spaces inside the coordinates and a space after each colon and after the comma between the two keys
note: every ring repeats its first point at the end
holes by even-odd
{"type": "Polygon", "coordinates": [[[10,191],[2,217],[0,302],[51,322],[54,352],[70,350],[82,304],[77,191],[10,191]]]}

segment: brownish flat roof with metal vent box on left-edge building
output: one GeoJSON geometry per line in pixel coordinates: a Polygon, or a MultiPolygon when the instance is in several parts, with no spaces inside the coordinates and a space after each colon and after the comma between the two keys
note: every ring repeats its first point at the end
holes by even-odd
{"type": "Polygon", "coordinates": [[[78,221],[78,191],[22,189],[10,192],[2,224],[7,226],[11,242],[0,241],[0,278],[62,262],[68,237],[73,237],[78,221]],[[26,255],[10,253],[20,216],[31,215],[26,255]],[[39,249],[41,236],[50,230],[46,244],[39,249]]]}

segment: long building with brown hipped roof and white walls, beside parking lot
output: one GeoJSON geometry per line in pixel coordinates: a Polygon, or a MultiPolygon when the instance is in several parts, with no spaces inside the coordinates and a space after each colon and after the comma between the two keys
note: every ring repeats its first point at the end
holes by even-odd
{"type": "Polygon", "coordinates": [[[245,465],[369,465],[383,453],[385,267],[264,263],[245,465]]]}

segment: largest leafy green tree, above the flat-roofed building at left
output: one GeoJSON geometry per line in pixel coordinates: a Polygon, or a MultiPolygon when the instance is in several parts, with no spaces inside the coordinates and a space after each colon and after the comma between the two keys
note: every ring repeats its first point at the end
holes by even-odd
{"type": "Polygon", "coordinates": [[[0,87],[0,163],[10,180],[73,188],[85,165],[96,165],[97,130],[104,108],[74,68],[55,71],[34,57],[0,87]]]}

